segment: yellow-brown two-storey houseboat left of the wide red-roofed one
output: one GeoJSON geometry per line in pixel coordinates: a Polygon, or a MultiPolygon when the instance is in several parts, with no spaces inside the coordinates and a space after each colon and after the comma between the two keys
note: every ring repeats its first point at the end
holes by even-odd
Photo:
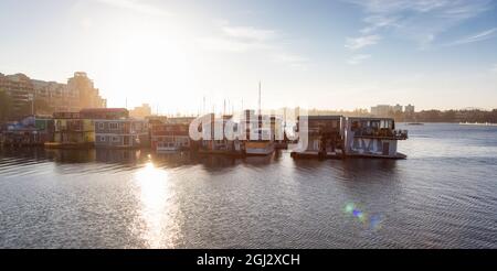
{"type": "Polygon", "coordinates": [[[83,118],[80,112],[55,112],[53,141],[45,148],[78,149],[93,148],[95,126],[92,119],[83,118]]]}

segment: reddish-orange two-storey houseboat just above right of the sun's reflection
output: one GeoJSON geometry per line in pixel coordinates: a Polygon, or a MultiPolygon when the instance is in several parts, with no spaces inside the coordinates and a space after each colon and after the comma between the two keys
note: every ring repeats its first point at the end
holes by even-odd
{"type": "Polygon", "coordinates": [[[190,150],[190,122],[194,118],[168,118],[154,122],[150,127],[151,148],[156,152],[190,150]]]}

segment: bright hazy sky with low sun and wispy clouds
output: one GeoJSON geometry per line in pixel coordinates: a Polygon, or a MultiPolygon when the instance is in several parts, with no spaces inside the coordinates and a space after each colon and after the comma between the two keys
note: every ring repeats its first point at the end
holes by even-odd
{"type": "Polygon", "coordinates": [[[493,0],[1,0],[0,73],[161,113],[497,108],[493,0]]]}

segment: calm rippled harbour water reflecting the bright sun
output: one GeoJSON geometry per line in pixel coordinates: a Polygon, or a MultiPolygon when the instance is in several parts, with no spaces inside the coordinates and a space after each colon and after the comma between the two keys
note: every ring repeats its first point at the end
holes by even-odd
{"type": "Polygon", "coordinates": [[[497,248],[497,128],[406,127],[404,161],[0,152],[2,248],[497,248]]]}

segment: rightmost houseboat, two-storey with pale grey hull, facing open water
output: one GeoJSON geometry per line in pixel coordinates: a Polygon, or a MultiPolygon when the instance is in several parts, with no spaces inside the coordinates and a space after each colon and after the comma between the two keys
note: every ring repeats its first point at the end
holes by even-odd
{"type": "Polygon", "coordinates": [[[396,151],[398,141],[408,139],[406,130],[395,130],[391,118],[347,118],[346,147],[348,156],[405,159],[396,151]]]}

